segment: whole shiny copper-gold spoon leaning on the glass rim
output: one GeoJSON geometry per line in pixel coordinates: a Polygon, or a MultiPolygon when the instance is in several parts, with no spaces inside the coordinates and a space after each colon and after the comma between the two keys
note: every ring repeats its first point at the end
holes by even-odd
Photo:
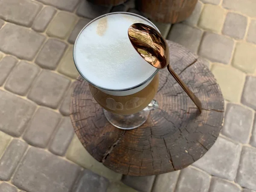
{"type": "Polygon", "coordinates": [[[128,36],[136,51],[153,67],[167,67],[174,79],[198,107],[200,113],[202,104],[186,84],[177,76],[169,65],[169,46],[165,38],[153,27],[143,23],[134,23],[128,29],[128,36]]]}

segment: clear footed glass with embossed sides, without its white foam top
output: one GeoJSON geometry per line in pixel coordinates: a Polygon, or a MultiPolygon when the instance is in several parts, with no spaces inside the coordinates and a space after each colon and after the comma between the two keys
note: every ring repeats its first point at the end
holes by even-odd
{"type": "MultiPolygon", "coordinates": [[[[151,25],[154,26],[155,29],[157,29],[157,27],[151,21],[137,14],[126,12],[114,12],[107,15],[118,13],[140,17],[148,23],[151,23],[151,25]]],[[[90,23],[104,16],[105,15],[97,17],[90,23]]],[[[88,23],[84,28],[86,28],[90,23],[88,23]]],[[[75,47],[76,43],[74,46],[74,50],[75,47]]],[[[73,56],[74,55],[75,54],[73,54],[73,56]]],[[[75,56],[74,63],[76,65],[75,56]]],[[[103,112],[108,121],[117,128],[137,128],[140,125],[143,125],[143,123],[148,119],[150,111],[158,108],[158,103],[156,100],[154,100],[154,96],[157,93],[159,84],[158,69],[155,70],[154,74],[150,78],[134,87],[130,87],[128,89],[123,90],[111,90],[106,89],[104,87],[99,87],[93,82],[89,81],[83,75],[83,73],[81,73],[77,65],[76,68],[79,71],[80,75],[88,81],[90,92],[93,95],[93,98],[99,103],[99,105],[102,106],[103,112]]]]}

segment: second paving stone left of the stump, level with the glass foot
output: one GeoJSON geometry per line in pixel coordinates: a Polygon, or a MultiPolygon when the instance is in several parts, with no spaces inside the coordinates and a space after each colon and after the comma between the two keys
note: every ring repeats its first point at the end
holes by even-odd
{"type": "Polygon", "coordinates": [[[46,108],[39,108],[30,121],[23,139],[32,145],[45,148],[60,118],[59,113],[46,108]]]}

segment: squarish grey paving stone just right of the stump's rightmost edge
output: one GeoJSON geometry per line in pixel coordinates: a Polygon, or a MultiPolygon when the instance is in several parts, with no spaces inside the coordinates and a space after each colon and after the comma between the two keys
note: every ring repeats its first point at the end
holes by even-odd
{"type": "Polygon", "coordinates": [[[224,118],[222,134],[240,143],[247,143],[253,113],[241,105],[228,103],[224,118]]]}

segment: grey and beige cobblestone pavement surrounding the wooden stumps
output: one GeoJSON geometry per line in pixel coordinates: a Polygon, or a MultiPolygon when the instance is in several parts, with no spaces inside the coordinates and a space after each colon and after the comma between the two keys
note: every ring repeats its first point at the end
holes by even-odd
{"type": "Polygon", "coordinates": [[[0,0],[0,192],[256,191],[255,10],[255,0],[201,0],[186,21],[156,23],[169,40],[208,61],[226,99],[224,128],[186,169],[122,177],[94,160],[74,135],[72,49],[91,19],[137,13],[133,0],[116,7],[0,0]]]}

